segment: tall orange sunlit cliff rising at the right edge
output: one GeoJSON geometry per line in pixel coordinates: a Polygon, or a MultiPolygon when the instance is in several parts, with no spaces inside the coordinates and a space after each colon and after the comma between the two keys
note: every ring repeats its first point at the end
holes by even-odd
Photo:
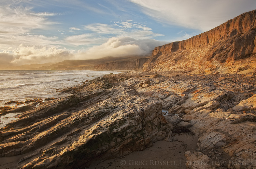
{"type": "Polygon", "coordinates": [[[255,37],[256,10],[187,40],[156,47],[143,70],[232,73],[239,67],[253,68],[255,37]]]}

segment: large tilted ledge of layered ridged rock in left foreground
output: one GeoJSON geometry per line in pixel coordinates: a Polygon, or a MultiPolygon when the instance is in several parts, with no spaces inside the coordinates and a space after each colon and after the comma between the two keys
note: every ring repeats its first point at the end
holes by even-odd
{"type": "Polygon", "coordinates": [[[106,78],[21,114],[4,130],[0,160],[17,157],[12,167],[18,169],[86,167],[143,150],[171,133],[157,98],[112,87],[106,78]]]}

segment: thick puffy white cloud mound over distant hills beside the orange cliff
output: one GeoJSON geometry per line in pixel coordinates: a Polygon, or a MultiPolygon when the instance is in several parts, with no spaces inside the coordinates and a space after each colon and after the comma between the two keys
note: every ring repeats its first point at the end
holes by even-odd
{"type": "Polygon", "coordinates": [[[112,37],[106,43],[94,46],[76,54],[77,59],[101,58],[105,56],[127,56],[149,54],[156,46],[166,41],[153,39],[134,39],[131,37],[112,37]]]}

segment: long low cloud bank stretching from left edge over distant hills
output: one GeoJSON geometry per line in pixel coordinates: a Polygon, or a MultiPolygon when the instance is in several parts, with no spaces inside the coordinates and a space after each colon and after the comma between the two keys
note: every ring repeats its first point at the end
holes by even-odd
{"type": "Polygon", "coordinates": [[[56,46],[26,46],[22,44],[17,49],[13,49],[12,53],[7,53],[7,51],[0,53],[0,66],[4,68],[24,64],[61,62],[63,60],[96,59],[105,56],[147,55],[151,54],[150,51],[156,46],[166,43],[154,39],[112,37],[106,43],[79,51],[69,51],[66,48],[60,49],[56,46]]]}

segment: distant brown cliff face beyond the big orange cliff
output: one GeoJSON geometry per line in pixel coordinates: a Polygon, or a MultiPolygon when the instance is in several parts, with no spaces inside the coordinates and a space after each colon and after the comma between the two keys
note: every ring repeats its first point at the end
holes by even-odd
{"type": "Polygon", "coordinates": [[[94,66],[96,70],[142,70],[143,64],[149,58],[138,58],[133,61],[116,61],[97,64],[94,66]]]}

